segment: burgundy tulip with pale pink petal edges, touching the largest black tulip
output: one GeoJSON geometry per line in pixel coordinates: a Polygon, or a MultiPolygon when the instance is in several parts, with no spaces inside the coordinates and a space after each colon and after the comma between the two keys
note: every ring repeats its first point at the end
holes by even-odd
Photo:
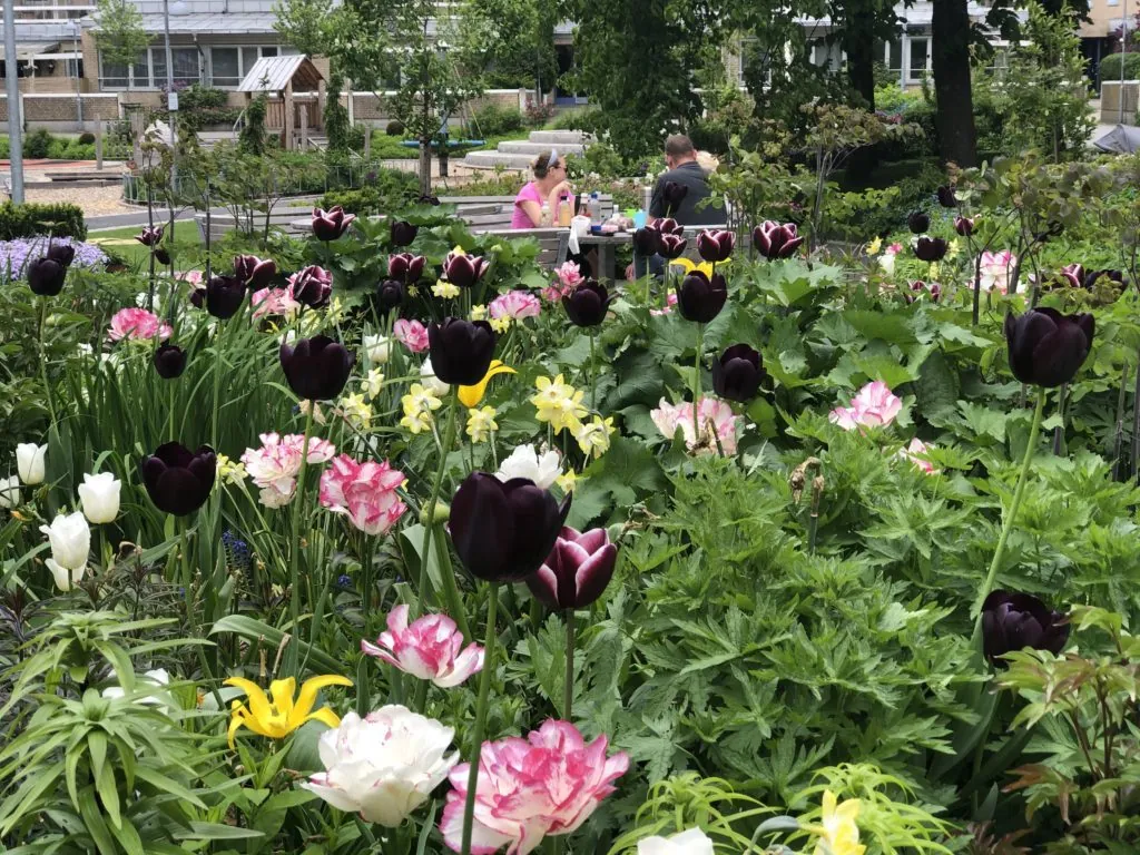
{"type": "Polygon", "coordinates": [[[618,563],[618,547],[605,529],[578,531],[564,526],[527,587],[551,609],[585,609],[605,591],[618,563]]]}

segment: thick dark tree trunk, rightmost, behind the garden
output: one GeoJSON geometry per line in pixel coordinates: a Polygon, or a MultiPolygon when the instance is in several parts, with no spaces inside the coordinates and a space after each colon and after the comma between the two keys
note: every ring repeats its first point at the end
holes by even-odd
{"type": "Polygon", "coordinates": [[[943,161],[976,166],[977,131],[970,90],[970,14],[967,0],[938,0],[931,22],[936,123],[943,161]]]}

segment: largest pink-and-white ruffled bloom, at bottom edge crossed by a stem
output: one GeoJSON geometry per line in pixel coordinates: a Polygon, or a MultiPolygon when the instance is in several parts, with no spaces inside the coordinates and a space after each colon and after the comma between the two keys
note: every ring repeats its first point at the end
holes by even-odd
{"type": "MultiPolygon", "coordinates": [[[[527,739],[484,742],[475,787],[473,855],[491,855],[504,846],[506,855],[528,855],[547,834],[580,828],[629,768],[629,756],[621,751],[606,757],[608,747],[605,736],[587,744],[577,727],[554,719],[527,739]]],[[[443,841],[455,852],[463,838],[469,771],[466,763],[451,769],[455,789],[447,793],[440,821],[443,841]]]]}

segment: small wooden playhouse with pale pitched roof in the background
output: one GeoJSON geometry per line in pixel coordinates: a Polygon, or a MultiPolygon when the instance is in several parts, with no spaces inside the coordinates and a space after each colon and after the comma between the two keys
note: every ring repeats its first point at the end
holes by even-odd
{"type": "Polygon", "coordinates": [[[302,54],[261,57],[237,91],[245,93],[246,107],[254,96],[268,96],[266,130],[282,135],[285,148],[300,147],[309,132],[323,127],[325,79],[302,54]]]}

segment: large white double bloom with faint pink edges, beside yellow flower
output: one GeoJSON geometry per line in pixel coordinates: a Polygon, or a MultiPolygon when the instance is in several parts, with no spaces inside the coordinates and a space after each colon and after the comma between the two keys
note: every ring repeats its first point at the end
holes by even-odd
{"type": "Polygon", "coordinates": [[[301,785],[339,811],[394,829],[458,763],[458,751],[445,756],[454,735],[453,728],[397,705],[367,718],[349,712],[340,727],[320,734],[326,772],[301,785]]]}

